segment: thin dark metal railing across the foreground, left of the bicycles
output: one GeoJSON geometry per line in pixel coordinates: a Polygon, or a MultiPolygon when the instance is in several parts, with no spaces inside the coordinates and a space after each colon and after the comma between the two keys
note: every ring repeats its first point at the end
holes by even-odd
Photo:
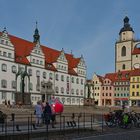
{"type": "Polygon", "coordinates": [[[7,114],[4,122],[0,123],[0,140],[32,140],[48,139],[54,134],[66,136],[70,133],[81,135],[86,130],[92,133],[98,129],[103,132],[104,120],[102,115],[87,113],[57,114],[55,128],[51,123],[42,123],[37,126],[36,115],[33,114],[7,114]]]}

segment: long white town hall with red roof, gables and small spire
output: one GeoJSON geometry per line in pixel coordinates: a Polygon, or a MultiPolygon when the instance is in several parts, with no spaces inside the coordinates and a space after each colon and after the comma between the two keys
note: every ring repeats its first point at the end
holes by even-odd
{"type": "Polygon", "coordinates": [[[65,105],[83,105],[85,81],[83,56],[41,45],[37,27],[33,42],[10,35],[6,28],[0,32],[0,104],[36,104],[53,97],[65,105]]]}

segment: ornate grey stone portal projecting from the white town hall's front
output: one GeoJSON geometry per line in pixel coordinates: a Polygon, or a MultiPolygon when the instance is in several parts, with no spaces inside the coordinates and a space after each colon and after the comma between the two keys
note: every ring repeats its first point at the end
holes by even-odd
{"type": "Polygon", "coordinates": [[[55,92],[53,89],[53,84],[51,81],[42,81],[41,82],[41,93],[42,93],[42,100],[48,101],[54,96],[55,92]]]}

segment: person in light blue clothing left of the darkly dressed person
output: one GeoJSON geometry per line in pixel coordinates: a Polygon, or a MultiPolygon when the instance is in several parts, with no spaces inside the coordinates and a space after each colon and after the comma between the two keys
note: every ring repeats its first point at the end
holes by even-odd
{"type": "Polygon", "coordinates": [[[37,102],[35,106],[35,115],[36,115],[36,126],[40,126],[42,122],[42,107],[40,101],[37,102]]]}

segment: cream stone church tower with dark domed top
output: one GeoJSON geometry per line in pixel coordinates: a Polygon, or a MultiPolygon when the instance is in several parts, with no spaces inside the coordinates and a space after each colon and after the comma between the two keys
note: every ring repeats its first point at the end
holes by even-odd
{"type": "Polygon", "coordinates": [[[126,16],[124,26],[119,32],[119,40],[115,43],[115,72],[132,69],[132,51],[134,49],[134,31],[126,16]]]}

